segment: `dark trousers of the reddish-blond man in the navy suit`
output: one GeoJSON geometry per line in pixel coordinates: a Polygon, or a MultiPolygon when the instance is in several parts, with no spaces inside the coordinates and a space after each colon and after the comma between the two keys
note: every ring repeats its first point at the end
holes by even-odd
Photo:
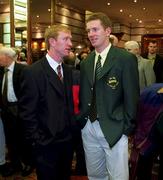
{"type": "Polygon", "coordinates": [[[72,142],[36,145],[34,152],[38,180],[70,179],[72,142]]]}

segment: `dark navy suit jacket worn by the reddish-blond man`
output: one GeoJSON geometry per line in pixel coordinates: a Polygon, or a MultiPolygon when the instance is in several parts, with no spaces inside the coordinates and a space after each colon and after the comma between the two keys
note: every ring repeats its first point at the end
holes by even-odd
{"type": "Polygon", "coordinates": [[[63,64],[63,73],[64,84],[46,57],[22,73],[19,113],[26,139],[33,145],[47,145],[71,138],[72,71],[63,64]]]}

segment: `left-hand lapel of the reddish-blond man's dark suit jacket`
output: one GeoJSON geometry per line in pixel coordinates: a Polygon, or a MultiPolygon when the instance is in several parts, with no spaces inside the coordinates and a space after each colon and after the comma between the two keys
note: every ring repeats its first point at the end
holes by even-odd
{"type": "Polygon", "coordinates": [[[51,86],[53,88],[55,88],[55,90],[60,95],[63,96],[64,95],[64,86],[63,86],[63,83],[58,78],[58,75],[56,74],[56,72],[50,67],[50,65],[49,65],[49,63],[48,63],[46,58],[43,58],[42,66],[43,66],[43,69],[44,69],[45,73],[47,74],[47,77],[48,77],[48,80],[49,80],[51,86]]]}

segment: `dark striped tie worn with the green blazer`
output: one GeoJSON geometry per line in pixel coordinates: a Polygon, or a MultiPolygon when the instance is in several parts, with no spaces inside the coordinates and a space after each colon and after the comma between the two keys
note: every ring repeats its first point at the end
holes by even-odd
{"type": "Polygon", "coordinates": [[[97,119],[97,107],[96,107],[96,81],[99,80],[101,73],[101,56],[98,56],[98,60],[96,63],[96,69],[95,69],[95,81],[93,85],[93,92],[92,92],[92,102],[90,106],[90,111],[89,111],[89,119],[91,122],[94,122],[97,119]]]}

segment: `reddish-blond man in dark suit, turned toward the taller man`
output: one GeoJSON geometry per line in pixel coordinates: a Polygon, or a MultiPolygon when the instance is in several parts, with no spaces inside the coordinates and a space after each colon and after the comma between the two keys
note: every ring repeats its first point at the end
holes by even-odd
{"type": "Polygon", "coordinates": [[[21,75],[20,117],[32,145],[38,180],[69,180],[72,161],[72,69],[63,63],[71,30],[53,25],[45,31],[47,54],[21,75]]]}

